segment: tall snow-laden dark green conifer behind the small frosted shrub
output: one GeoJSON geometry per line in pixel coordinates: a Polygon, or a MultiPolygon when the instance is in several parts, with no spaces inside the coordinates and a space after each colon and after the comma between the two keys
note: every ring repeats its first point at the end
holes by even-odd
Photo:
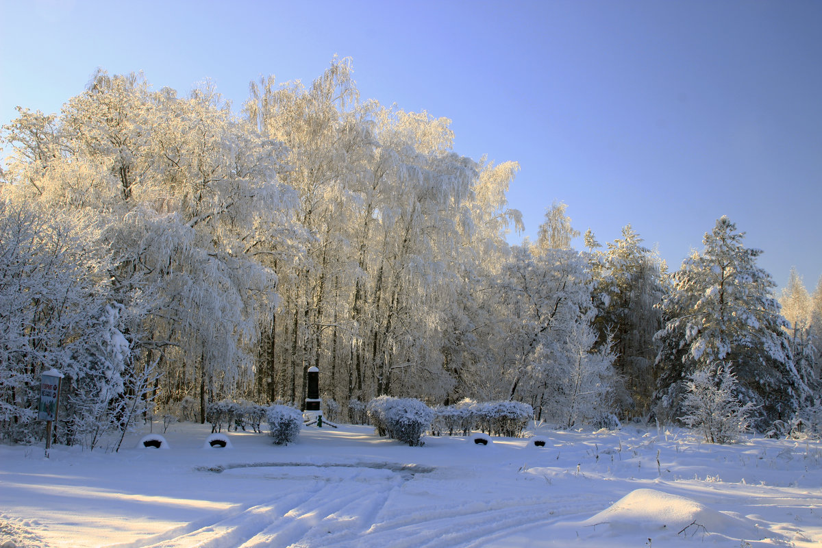
{"type": "Polygon", "coordinates": [[[663,417],[681,415],[686,380],[714,362],[730,364],[741,402],[755,408],[754,426],[767,429],[796,412],[806,386],[793,364],[785,320],[770,275],[756,265],[761,251],[727,217],[706,233],[704,251],[683,261],[663,300],[656,398],[663,417]]]}

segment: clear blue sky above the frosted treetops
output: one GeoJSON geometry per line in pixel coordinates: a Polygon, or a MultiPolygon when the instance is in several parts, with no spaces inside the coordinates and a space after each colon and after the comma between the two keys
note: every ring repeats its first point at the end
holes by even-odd
{"type": "Polygon", "coordinates": [[[208,77],[239,106],[337,53],[363,99],[519,161],[524,235],[562,200],[580,232],[630,223],[677,269],[727,214],[779,285],[822,274],[822,2],[0,0],[0,21],[0,123],[58,112],[96,67],[181,94],[208,77]]]}

